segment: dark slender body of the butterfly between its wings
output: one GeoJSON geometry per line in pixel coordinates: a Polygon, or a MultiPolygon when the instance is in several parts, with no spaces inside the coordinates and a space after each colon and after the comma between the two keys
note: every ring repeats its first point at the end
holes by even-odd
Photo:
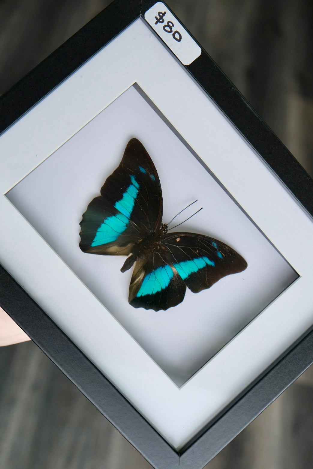
{"type": "Polygon", "coordinates": [[[121,272],[126,272],[132,267],[132,265],[137,261],[137,259],[143,259],[148,257],[151,252],[158,252],[160,250],[165,250],[166,248],[161,245],[161,240],[165,234],[168,232],[168,226],[164,223],[161,223],[161,226],[158,230],[153,231],[151,234],[148,234],[144,239],[140,240],[133,248],[132,254],[130,257],[127,257],[124,262],[121,272]]]}

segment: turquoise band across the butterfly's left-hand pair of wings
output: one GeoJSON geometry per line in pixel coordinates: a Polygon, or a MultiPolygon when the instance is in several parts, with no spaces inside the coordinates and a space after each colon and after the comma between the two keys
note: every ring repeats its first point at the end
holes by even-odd
{"type": "Polygon", "coordinates": [[[114,242],[126,230],[139,189],[139,184],[132,174],[130,175],[130,181],[131,184],[124,192],[121,200],[118,200],[114,205],[120,213],[106,218],[101,223],[92,241],[92,247],[114,242]]]}

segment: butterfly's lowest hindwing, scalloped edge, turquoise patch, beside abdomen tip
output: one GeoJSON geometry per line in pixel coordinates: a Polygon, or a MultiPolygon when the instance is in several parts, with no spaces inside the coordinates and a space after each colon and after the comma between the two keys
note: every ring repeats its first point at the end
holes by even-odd
{"type": "Polygon", "coordinates": [[[183,301],[185,291],[186,285],[166,256],[151,252],[135,262],[129,294],[134,308],[167,310],[183,301]]]}

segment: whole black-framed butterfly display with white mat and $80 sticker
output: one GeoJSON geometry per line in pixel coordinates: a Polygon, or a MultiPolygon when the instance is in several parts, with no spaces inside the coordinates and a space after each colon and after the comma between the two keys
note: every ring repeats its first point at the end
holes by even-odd
{"type": "Polygon", "coordinates": [[[202,468],[313,361],[312,180],[162,2],[0,107],[0,306],[154,468],[202,468]]]}

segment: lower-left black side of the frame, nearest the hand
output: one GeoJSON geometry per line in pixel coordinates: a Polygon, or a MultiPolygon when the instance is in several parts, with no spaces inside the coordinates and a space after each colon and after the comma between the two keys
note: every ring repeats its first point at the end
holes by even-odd
{"type": "Polygon", "coordinates": [[[1,266],[0,306],[153,467],[178,469],[178,453],[1,266]]]}

